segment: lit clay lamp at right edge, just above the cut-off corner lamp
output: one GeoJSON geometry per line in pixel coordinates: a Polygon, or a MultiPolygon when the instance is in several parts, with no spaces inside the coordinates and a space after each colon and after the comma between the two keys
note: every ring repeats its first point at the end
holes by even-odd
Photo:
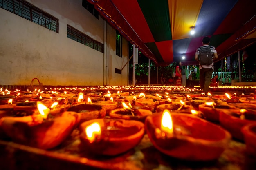
{"type": "Polygon", "coordinates": [[[256,112],[247,109],[221,110],[220,126],[229,131],[235,139],[244,141],[244,135],[241,132],[243,126],[256,123],[256,112]]]}

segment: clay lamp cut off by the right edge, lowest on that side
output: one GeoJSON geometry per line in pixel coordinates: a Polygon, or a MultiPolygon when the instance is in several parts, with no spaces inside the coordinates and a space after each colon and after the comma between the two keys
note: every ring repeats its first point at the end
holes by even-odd
{"type": "Polygon", "coordinates": [[[256,157],[256,123],[245,125],[242,128],[246,150],[249,155],[256,157]]]}

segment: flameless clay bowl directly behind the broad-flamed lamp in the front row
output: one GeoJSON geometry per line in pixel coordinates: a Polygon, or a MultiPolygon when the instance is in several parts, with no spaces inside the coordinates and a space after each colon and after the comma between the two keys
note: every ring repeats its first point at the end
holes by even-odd
{"type": "Polygon", "coordinates": [[[79,104],[67,109],[67,112],[76,112],[80,116],[80,123],[91,119],[103,118],[106,110],[97,104],[79,104]]]}

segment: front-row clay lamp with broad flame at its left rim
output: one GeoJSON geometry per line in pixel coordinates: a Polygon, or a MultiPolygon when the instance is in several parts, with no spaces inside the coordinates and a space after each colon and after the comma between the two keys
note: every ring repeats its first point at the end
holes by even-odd
{"type": "Polygon", "coordinates": [[[94,119],[79,126],[81,150],[94,155],[115,156],[139,144],[144,124],[135,120],[94,119]]]}

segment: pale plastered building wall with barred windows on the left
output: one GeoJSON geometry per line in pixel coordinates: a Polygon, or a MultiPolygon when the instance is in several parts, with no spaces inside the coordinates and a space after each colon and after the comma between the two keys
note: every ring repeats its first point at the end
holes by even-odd
{"type": "MultiPolygon", "coordinates": [[[[67,38],[67,24],[103,43],[104,20],[82,7],[82,0],[27,0],[59,20],[59,33],[0,8],[0,85],[103,85],[103,53],[67,38]]],[[[128,42],[115,55],[115,29],[107,26],[108,82],[128,85],[128,42]]]]}

